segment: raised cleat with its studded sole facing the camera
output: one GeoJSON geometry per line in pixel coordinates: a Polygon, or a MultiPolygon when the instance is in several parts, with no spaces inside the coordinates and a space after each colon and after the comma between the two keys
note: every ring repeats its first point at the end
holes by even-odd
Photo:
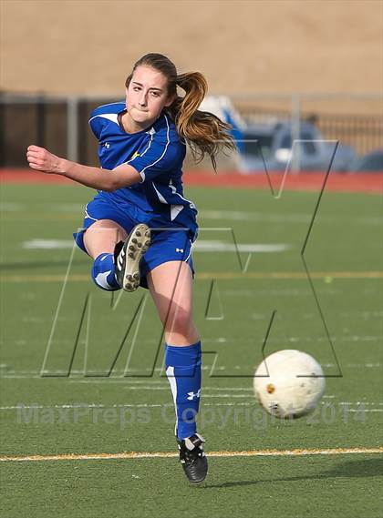
{"type": "Polygon", "coordinates": [[[140,260],[150,247],[150,228],[144,223],[136,225],[128,238],[117,243],[114,250],[116,279],[125,291],[135,291],[140,286],[140,260]]]}

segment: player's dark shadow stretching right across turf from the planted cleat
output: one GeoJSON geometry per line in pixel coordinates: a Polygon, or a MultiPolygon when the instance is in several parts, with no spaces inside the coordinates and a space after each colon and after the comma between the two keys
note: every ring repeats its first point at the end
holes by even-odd
{"type": "Polygon", "coordinates": [[[331,470],[317,474],[300,475],[296,477],[284,477],[275,479],[255,479],[253,481],[233,481],[216,484],[205,483],[203,489],[220,487],[238,487],[241,485],[253,485],[262,482],[299,482],[309,480],[326,480],[329,478],[367,478],[383,475],[383,458],[364,459],[363,461],[340,462],[331,470]]]}

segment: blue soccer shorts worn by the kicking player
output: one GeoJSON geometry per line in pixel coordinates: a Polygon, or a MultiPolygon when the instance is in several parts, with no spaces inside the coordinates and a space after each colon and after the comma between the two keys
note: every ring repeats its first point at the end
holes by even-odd
{"type": "Polygon", "coordinates": [[[140,261],[140,286],[143,288],[148,288],[146,276],[150,270],[173,260],[189,264],[194,277],[189,229],[171,225],[167,227],[158,215],[145,212],[131,204],[124,204],[123,208],[120,208],[118,204],[112,205],[102,198],[95,198],[85,208],[83,228],[73,234],[78,247],[86,253],[88,252],[84,246],[84,233],[99,219],[116,221],[128,234],[138,223],[146,223],[150,227],[151,245],[140,261]]]}

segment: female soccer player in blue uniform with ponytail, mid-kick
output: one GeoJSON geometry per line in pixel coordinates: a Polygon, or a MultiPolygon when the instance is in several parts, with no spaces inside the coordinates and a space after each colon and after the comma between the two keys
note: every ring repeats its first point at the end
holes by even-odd
{"type": "Polygon", "coordinates": [[[171,60],[143,56],[126,80],[125,102],[98,107],[89,119],[101,168],[90,168],[29,146],[30,168],[96,188],[85,209],[78,246],[94,259],[101,289],[150,289],[165,330],[166,374],[176,410],[184,472],[193,483],[207,474],[196,430],[201,397],[201,340],[192,318],[191,245],[194,204],[183,198],[182,162],[189,144],[197,159],[233,149],[229,126],[200,106],[207,84],[198,72],[177,75],[171,60]],[[184,91],[179,96],[177,86],[184,91]]]}

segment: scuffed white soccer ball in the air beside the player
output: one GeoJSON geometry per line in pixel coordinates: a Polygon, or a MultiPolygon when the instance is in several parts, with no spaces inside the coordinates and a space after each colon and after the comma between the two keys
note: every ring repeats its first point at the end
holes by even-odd
{"type": "Polygon", "coordinates": [[[278,350],[259,365],[254,392],[266,411],[281,419],[315,411],[326,381],[319,363],[301,350],[278,350]]]}

